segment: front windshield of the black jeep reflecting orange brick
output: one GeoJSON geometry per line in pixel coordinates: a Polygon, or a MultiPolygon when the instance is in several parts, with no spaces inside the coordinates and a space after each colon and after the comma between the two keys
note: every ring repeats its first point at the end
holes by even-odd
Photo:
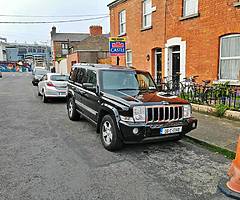
{"type": "Polygon", "coordinates": [[[102,72],[103,90],[156,90],[148,72],[109,70],[102,72]]]}

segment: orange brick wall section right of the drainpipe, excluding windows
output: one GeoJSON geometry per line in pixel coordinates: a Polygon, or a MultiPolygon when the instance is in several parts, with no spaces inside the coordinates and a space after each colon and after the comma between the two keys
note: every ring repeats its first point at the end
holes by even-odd
{"type": "Polygon", "coordinates": [[[220,37],[240,33],[240,9],[233,6],[236,0],[200,0],[200,16],[183,21],[179,20],[182,1],[167,2],[167,39],[179,36],[186,41],[187,76],[197,74],[199,80],[216,80],[220,37]]]}

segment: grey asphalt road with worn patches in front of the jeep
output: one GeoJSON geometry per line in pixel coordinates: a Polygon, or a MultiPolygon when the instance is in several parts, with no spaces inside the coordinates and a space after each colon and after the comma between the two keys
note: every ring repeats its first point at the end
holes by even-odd
{"type": "Polygon", "coordinates": [[[63,101],[43,104],[31,74],[0,79],[0,199],[220,200],[231,161],[186,141],[106,151],[63,101]]]}

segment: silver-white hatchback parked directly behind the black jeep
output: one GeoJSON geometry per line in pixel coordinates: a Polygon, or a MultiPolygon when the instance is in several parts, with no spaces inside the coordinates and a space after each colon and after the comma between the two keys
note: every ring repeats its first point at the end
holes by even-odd
{"type": "Polygon", "coordinates": [[[69,76],[57,73],[45,74],[38,83],[38,96],[47,103],[50,98],[66,98],[69,76]]]}

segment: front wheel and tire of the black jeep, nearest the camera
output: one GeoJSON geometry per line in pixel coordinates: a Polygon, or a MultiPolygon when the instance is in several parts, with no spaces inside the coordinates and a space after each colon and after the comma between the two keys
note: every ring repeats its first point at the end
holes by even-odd
{"type": "Polygon", "coordinates": [[[115,151],[122,148],[123,142],[118,134],[113,118],[110,115],[105,115],[100,125],[101,142],[105,149],[115,151]]]}

